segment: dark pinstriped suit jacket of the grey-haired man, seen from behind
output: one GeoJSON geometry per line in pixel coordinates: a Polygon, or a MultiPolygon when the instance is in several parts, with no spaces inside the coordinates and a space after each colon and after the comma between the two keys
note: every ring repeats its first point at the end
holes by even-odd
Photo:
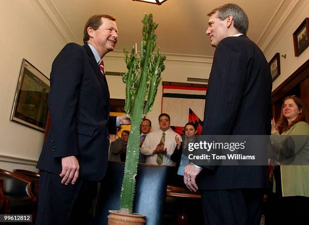
{"type": "MultiPolygon", "coordinates": [[[[270,134],[272,78],[264,54],[246,35],[215,51],[202,134],[270,134]]],[[[201,189],[264,188],[267,166],[202,166],[201,189]]]]}

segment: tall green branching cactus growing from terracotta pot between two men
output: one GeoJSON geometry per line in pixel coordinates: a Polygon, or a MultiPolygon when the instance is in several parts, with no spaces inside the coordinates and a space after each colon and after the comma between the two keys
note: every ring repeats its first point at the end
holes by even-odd
{"type": "Polygon", "coordinates": [[[143,20],[143,40],[141,41],[140,60],[133,46],[131,55],[125,51],[125,61],[128,71],[123,75],[126,83],[125,112],[131,118],[131,132],[127,145],[126,164],[121,189],[120,211],[132,214],[135,177],[139,157],[139,127],[143,116],[147,114],[155,101],[165,56],[153,56],[157,44],[155,30],[158,24],[152,21],[152,14],[145,14],[143,20]]]}

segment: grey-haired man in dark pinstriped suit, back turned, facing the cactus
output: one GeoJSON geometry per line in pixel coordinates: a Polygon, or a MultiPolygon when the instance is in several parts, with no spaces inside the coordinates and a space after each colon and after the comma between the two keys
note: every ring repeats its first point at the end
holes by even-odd
{"type": "MultiPolygon", "coordinates": [[[[235,4],[208,14],[216,48],[209,79],[202,134],[270,134],[272,79],[262,51],[247,36],[248,18],[235,4]]],[[[199,184],[205,224],[260,224],[267,166],[190,164],[184,183],[199,184]]]]}

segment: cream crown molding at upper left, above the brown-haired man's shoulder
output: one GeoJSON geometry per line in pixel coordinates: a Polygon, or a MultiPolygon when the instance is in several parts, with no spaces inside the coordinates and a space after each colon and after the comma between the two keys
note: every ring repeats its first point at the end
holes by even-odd
{"type": "Polygon", "coordinates": [[[77,38],[55,6],[53,0],[33,0],[33,3],[39,7],[43,15],[53,24],[54,28],[66,42],[77,42],[77,38]]]}

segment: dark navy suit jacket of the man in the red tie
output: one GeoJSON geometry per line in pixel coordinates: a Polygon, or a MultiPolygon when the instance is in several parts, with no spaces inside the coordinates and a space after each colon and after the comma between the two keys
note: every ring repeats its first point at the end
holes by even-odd
{"type": "Polygon", "coordinates": [[[37,168],[60,174],[61,159],[75,155],[79,177],[98,181],[108,164],[110,93],[88,44],[68,43],[53,62],[50,73],[50,129],[37,168]]]}

